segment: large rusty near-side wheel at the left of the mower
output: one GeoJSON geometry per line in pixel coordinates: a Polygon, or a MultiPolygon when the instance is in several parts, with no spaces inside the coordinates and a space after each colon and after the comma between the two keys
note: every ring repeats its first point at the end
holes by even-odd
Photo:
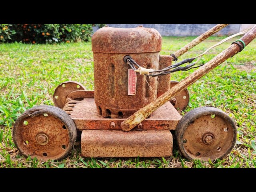
{"type": "Polygon", "coordinates": [[[42,160],[61,160],[73,148],[76,126],[63,110],[55,106],[35,106],[15,122],[13,140],[24,156],[42,160]]]}

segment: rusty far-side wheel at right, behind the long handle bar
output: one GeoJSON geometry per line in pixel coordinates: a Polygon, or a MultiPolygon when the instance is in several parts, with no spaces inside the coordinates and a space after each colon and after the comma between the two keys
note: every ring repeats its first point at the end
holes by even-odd
{"type": "MultiPolygon", "coordinates": [[[[174,85],[178,84],[179,82],[171,81],[170,83],[171,83],[170,88],[172,88],[174,85]]],[[[182,90],[178,95],[171,98],[170,102],[178,112],[183,111],[186,108],[186,106],[188,106],[188,102],[189,102],[188,89],[182,90]]]]}

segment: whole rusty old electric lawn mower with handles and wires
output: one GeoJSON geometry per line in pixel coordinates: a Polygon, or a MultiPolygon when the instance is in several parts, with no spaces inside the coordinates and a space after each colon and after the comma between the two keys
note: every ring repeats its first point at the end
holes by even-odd
{"type": "Polygon", "coordinates": [[[87,91],[75,81],[60,84],[55,106],[35,106],[17,119],[16,147],[24,156],[61,160],[72,150],[79,130],[84,157],[167,157],[172,155],[170,130],[175,130],[180,153],[188,160],[225,158],[236,143],[234,121],[210,106],[183,117],[179,112],[189,102],[186,88],[242,51],[256,37],[256,26],[218,43],[244,34],[206,64],[196,65],[218,44],[176,61],[227,25],[214,26],[170,56],[159,54],[162,37],[155,29],[100,28],[92,36],[95,90],[87,91]],[[196,67],[181,82],[170,81],[171,73],[196,67]]]}

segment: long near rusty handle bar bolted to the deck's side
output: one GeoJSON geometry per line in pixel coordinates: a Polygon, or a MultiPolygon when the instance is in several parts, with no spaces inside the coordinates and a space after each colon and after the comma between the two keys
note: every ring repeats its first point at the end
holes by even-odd
{"type": "MultiPolygon", "coordinates": [[[[244,41],[246,45],[248,45],[254,38],[256,37],[256,25],[244,36],[241,40],[244,41]]],[[[240,43],[240,42],[239,42],[240,43]]],[[[240,43],[242,45],[242,43],[240,43]]],[[[243,45],[242,45],[243,46],[243,45]]],[[[222,51],[220,54],[215,56],[212,60],[208,61],[204,66],[200,67],[198,70],[194,71],[184,80],[173,86],[170,90],[162,94],[162,96],[158,97],[156,100],[148,104],[147,106],[141,108],[133,115],[128,117],[121,123],[121,128],[123,131],[130,131],[140,122],[145,120],[152,112],[157,110],[160,106],[168,102],[172,97],[176,96],[180,91],[184,90],[202,76],[222,64],[228,58],[234,56],[236,53],[240,51],[240,46],[237,44],[232,44],[226,50],[222,51]]]]}

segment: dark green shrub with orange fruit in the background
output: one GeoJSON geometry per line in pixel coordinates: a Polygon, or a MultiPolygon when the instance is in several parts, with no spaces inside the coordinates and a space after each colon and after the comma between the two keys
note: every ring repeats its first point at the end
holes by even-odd
{"type": "Polygon", "coordinates": [[[88,41],[93,26],[104,24],[0,24],[0,42],[60,43],[88,41]]]}

